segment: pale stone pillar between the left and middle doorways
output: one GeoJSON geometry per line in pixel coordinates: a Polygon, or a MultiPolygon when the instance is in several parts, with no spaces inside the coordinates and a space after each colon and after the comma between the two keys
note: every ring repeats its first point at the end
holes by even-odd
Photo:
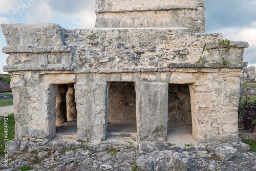
{"type": "Polygon", "coordinates": [[[108,83],[75,84],[77,139],[105,140],[108,113],[108,83]]]}

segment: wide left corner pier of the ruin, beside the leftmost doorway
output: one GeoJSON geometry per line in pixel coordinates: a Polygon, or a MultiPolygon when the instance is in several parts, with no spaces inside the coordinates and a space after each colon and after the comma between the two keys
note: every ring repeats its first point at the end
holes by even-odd
{"type": "Polygon", "coordinates": [[[27,74],[26,78],[30,82],[26,82],[23,75],[12,75],[11,80],[15,140],[47,141],[55,135],[56,131],[57,86],[54,84],[35,85],[36,74],[27,74]]]}

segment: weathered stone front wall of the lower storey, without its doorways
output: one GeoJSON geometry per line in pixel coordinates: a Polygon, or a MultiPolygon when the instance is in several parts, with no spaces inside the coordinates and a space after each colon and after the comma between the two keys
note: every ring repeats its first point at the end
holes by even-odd
{"type": "Polygon", "coordinates": [[[221,34],[188,29],[64,29],[56,24],[2,25],[15,108],[15,139],[55,135],[58,84],[74,84],[77,139],[107,137],[110,82],[134,82],[137,139],[166,140],[168,85],[187,84],[194,138],[238,141],[244,48],[221,34]],[[51,34],[50,34],[51,33],[51,34]],[[207,44],[202,62],[199,60],[207,44]],[[222,65],[222,58],[228,61],[222,65]]]}

